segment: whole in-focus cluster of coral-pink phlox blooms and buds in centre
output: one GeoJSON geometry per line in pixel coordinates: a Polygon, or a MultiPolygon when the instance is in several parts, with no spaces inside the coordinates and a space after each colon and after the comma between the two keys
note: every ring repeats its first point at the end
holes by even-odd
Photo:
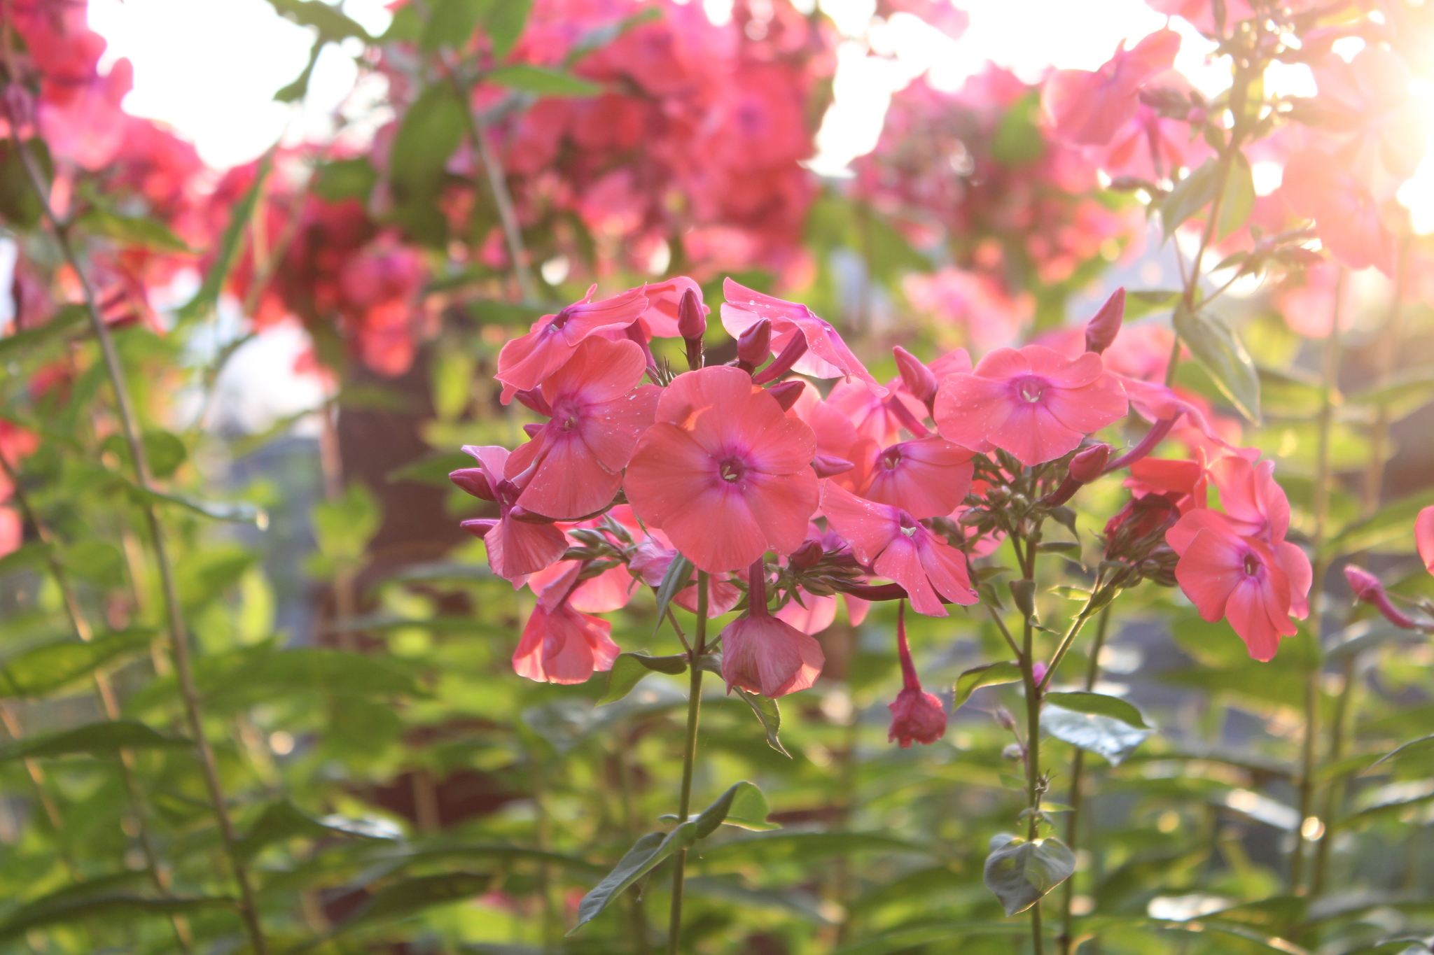
{"type": "MultiPolygon", "coordinates": [[[[1073,521],[1065,503],[1120,468],[1136,498],[1106,531],[1106,563],[1120,568],[1111,586],[1179,581],[1260,660],[1305,616],[1309,563],[1286,540],[1273,465],[1226,444],[1190,401],[1107,362],[1120,355],[1123,292],[1074,354],[1032,344],[972,365],[956,349],[928,365],[898,346],[901,374],[885,384],[806,305],[731,279],[724,298],[737,354],[726,365],[704,364],[710,312],[685,278],[599,301],[589,292],[503,346],[503,401],[541,421],[512,452],[465,448],[475,467],[450,477],[495,505],[463,524],[485,540],[493,573],[538,598],[518,673],[578,683],[608,669],[618,649],[594,614],[685,568],[668,581],[681,586],[678,606],[743,611],[720,636],[728,687],[773,697],[810,687],[823,664],[813,634],[833,621],[837,596],[856,621],[870,600],[935,617],[971,606],[974,558],[1007,538],[1018,556],[1034,553],[1044,518],[1073,521]],[[688,371],[674,375],[655,338],[683,338],[688,371]],[[813,379],[839,381],[823,395],[813,379]],[[1131,407],[1152,424],[1111,460],[1091,435],[1131,407]],[[1197,435],[1195,460],[1147,457],[1182,421],[1180,434],[1197,435]],[[1212,485],[1220,511],[1206,500],[1212,485]]],[[[945,719],[903,629],[899,656],[892,737],[931,742],[945,719]]]]}

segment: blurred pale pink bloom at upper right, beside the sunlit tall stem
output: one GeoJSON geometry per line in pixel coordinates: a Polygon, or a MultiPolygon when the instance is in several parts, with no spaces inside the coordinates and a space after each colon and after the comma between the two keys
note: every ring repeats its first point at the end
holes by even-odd
{"type": "Polygon", "coordinates": [[[1041,106],[1055,135],[1080,146],[1108,143],[1134,119],[1140,87],[1156,73],[1170,69],[1179,50],[1179,33],[1156,30],[1130,50],[1121,40],[1116,54],[1096,72],[1051,73],[1041,92],[1041,106]]]}

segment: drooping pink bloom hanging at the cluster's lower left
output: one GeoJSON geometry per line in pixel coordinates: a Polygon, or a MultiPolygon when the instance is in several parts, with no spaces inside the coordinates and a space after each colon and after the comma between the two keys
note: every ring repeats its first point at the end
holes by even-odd
{"type": "Polygon", "coordinates": [[[513,651],[518,676],[542,683],[585,683],[594,670],[611,670],[622,651],[608,636],[611,623],[568,606],[582,567],[582,561],[569,563],[566,571],[538,593],[538,606],[513,651]]]}

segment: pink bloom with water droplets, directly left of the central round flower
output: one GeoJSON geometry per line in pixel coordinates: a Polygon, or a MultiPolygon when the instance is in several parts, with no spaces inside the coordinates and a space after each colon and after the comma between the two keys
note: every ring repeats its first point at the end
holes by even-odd
{"type": "Polygon", "coordinates": [[[523,487],[521,507],[576,520],[612,501],[661,391],[638,388],[644,367],[634,342],[592,336],[542,384],[551,421],[513,451],[505,470],[523,487]]]}

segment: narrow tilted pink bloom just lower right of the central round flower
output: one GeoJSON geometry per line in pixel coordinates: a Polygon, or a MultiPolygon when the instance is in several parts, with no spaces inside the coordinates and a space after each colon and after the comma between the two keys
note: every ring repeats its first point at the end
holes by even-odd
{"type": "Polygon", "coordinates": [[[916,613],[945,617],[942,597],[962,606],[977,601],[965,554],[899,507],[866,501],[826,481],[822,513],[856,560],[906,588],[916,613]]]}

